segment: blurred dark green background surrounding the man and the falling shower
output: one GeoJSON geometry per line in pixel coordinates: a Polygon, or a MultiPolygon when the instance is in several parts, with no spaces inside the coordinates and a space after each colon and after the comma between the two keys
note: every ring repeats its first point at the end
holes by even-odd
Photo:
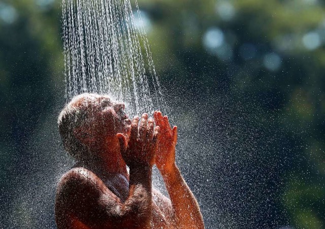
{"type": "MultiPolygon", "coordinates": [[[[324,4],[139,0],[207,228],[325,228],[324,4]],[[224,42],[209,49],[216,28],[224,42]]],[[[72,163],[56,129],[60,17],[60,1],[0,1],[1,228],[55,228],[72,163]]]]}

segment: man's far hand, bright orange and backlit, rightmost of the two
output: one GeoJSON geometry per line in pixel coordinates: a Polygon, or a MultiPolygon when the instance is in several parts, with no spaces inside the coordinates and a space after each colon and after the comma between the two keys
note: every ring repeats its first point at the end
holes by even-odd
{"type": "Polygon", "coordinates": [[[160,128],[155,163],[161,173],[169,173],[175,164],[177,126],[172,129],[168,117],[163,117],[160,111],[155,111],[153,117],[156,125],[160,128]]]}

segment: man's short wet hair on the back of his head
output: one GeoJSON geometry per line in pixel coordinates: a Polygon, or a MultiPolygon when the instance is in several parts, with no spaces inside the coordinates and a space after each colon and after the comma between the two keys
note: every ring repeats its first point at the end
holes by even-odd
{"type": "MultiPolygon", "coordinates": [[[[88,147],[76,138],[74,130],[87,122],[90,94],[75,96],[59,114],[57,124],[64,148],[76,160],[81,160],[89,153],[88,147]]],[[[86,134],[86,133],[85,133],[86,134]]]]}

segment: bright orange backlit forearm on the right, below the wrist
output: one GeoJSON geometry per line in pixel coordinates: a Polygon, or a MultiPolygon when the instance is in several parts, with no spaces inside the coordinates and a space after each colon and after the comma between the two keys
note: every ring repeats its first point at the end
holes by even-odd
{"type": "Polygon", "coordinates": [[[160,172],[175,212],[176,226],[178,228],[204,228],[200,207],[176,164],[174,163],[168,172],[160,172]]]}

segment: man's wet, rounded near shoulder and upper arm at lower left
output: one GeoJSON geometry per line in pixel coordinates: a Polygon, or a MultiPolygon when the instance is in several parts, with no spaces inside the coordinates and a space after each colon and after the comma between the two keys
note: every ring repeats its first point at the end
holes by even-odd
{"type": "MultiPolygon", "coordinates": [[[[114,209],[120,203],[93,172],[85,168],[74,168],[64,174],[58,183],[55,219],[58,225],[70,225],[74,217],[86,225],[97,225],[103,220],[111,220],[115,213],[114,209]]],[[[62,228],[79,227],[62,226],[62,228]]]]}

